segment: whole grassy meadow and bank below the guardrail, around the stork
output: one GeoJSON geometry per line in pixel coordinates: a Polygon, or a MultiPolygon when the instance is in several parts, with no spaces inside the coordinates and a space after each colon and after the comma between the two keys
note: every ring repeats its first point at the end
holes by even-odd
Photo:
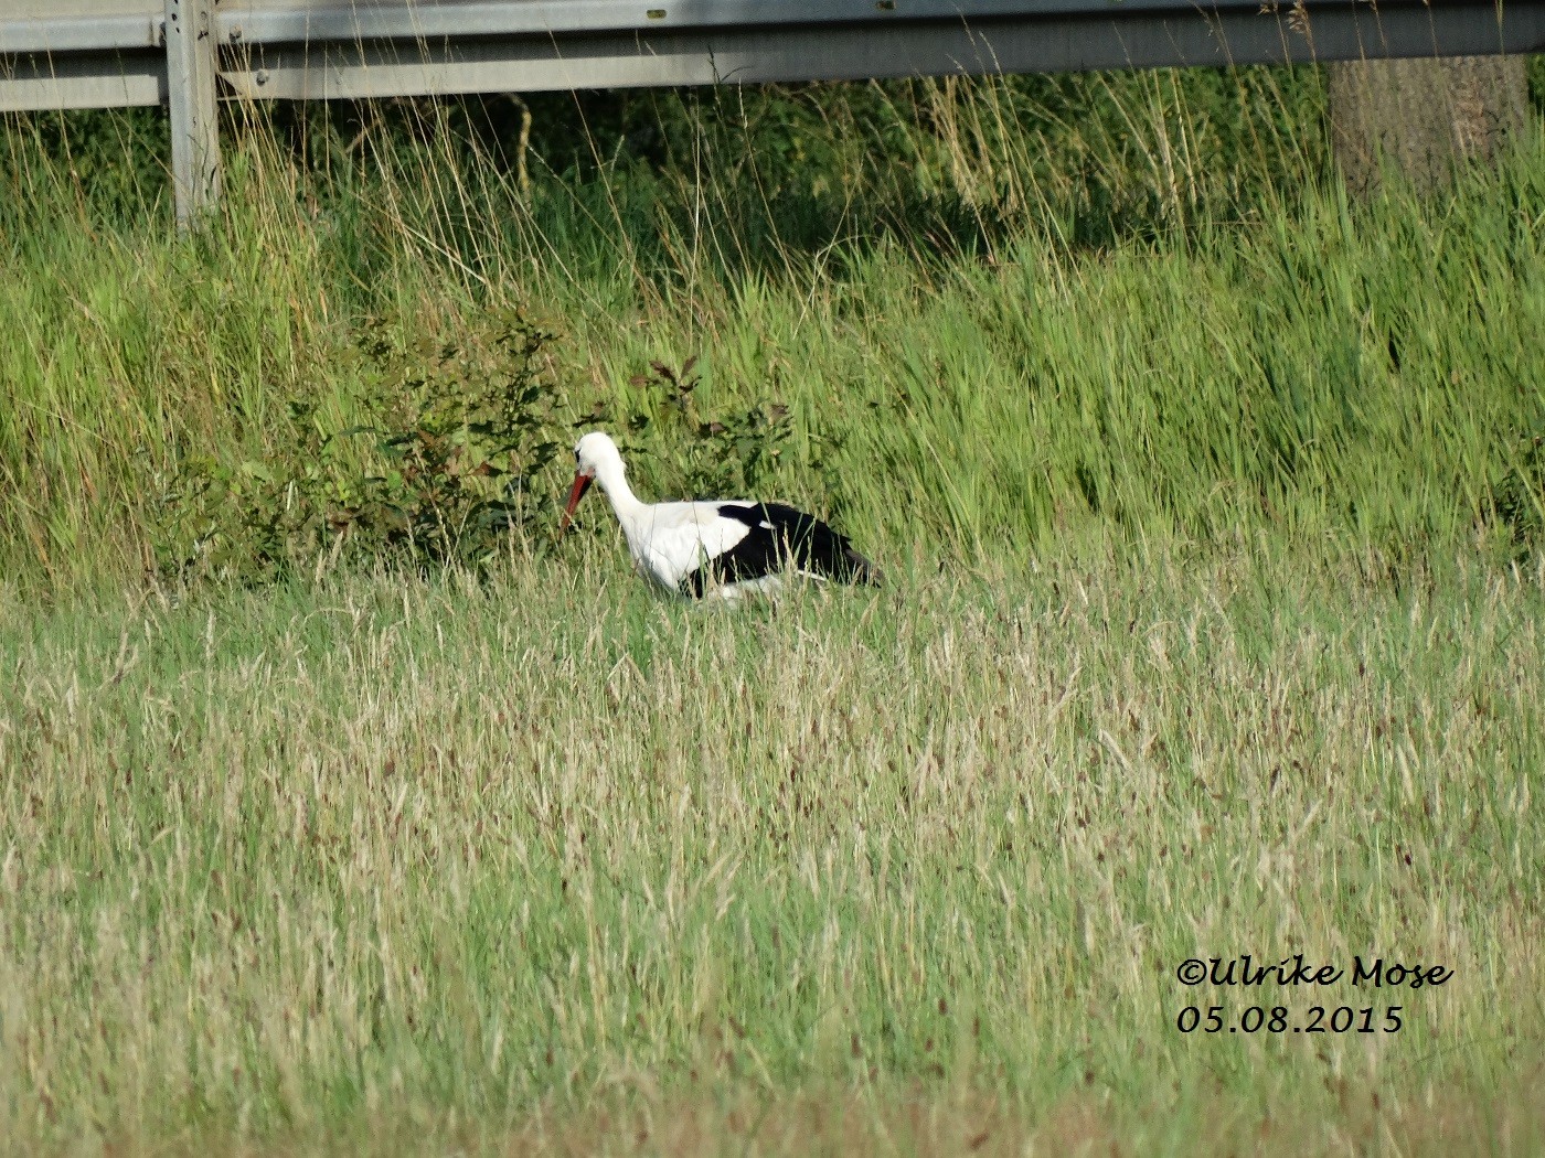
{"type": "Polygon", "coordinates": [[[8,124],[0,1149],[1537,1152],[1545,147],[1361,204],[1319,91],[233,110],[188,238],[8,124]],[[505,378],[513,530],[258,559],[505,378]],[[555,542],[596,423],[887,587],[555,542]]]}

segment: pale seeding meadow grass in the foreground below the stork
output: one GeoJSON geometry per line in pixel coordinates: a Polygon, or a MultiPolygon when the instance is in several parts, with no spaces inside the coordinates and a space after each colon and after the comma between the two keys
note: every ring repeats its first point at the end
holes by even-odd
{"type": "Polygon", "coordinates": [[[734,615],[621,554],[3,613],[0,1135],[1542,1138],[1537,570],[1112,550],[734,615]],[[1454,977],[1174,979],[1244,953],[1454,977]]]}

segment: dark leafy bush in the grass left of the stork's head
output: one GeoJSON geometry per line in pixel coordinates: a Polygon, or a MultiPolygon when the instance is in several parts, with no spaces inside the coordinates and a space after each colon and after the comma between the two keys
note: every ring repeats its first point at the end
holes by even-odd
{"type": "Polygon", "coordinates": [[[289,437],[263,459],[182,460],[161,502],[161,570],[267,579],[365,557],[485,564],[505,533],[550,519],[530,488],[561,449],[550,340],[518,313],[454,341],[368,340],[355,423],[332,428],[315,398],[292,397],[289,437]]]}

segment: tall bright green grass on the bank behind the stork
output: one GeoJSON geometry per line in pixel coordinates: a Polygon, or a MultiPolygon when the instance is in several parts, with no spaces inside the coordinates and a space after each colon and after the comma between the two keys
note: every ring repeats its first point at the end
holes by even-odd
{"type": "MultiPolygon", "coordinates": [[[[772,482],[867,539],[970,557],[1264,528],[1407,556],[1479,530],[1530,550],[1537,145],[1452,201],[1353,207],[1301,80],[1123,83],[1034,108],[1007,83],[723,96],[661,117],[654,164],[596,142],[564,173],[525,159],[525,187],[445,110],[399,117],[417,147],[306,124],[306,167],[243,113],[232,193],[190,239],[159,187],[80,178],[49,122],[12,131],[8,571],[142,571],[187,454],[261,459],[298,395],[346,426],[362,335],[476,332],[496,307],[561,330],[576,422],[647,412],[629,378],[689,357],[708,411],[788,406],[772,482]]],[[[646,493],[681,485],[667,445],[635,446],[646,493]]]]}

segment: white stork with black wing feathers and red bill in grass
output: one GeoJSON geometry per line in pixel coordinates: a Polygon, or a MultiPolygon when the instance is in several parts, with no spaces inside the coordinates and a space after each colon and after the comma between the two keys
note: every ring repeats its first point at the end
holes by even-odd
{"type": "Polygon", "coordinates": [[[646,503],[629,489],[626,469],[616,443],[599,431],[584,435],[575,446],[575,482],[558,533],[569,527],[590,483],[601,483],[633,564],[667,591],[729,601],[771,594],[786,571],[845,584],[881,581],[874,564],[854,551],[847,536],[814,516],[746,500],[646,503]]]}

